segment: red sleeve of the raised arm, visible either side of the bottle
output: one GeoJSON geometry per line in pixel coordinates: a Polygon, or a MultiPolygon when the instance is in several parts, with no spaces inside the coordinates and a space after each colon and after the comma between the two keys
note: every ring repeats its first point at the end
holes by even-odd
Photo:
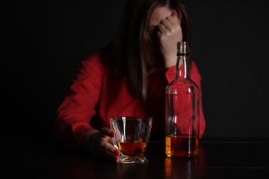
{"type": "MultiPolygon", "coordinates": [[[[168,83],[170,83],[171,81],[173,81],[175,78],[175,66],[172,67],[168,67],[166,69],[166,79],[168,81],[168,83]]],[[[200,131],[199,131],[199,135],[200,138],[203,136],[204,131],[206,129],[206,120],[205,117],[203,115],[203,103],[202,103],[202,94],[201,94],[201,75],[199,74],[199,70],[197,68],[197,65],[195,64],[194,61],[190,62],[190,78],[192,79],[192,81],[194,81],[199,89],[200,89],[200,99],[199,99],[199,118],[200,118],[200,131]]]]}

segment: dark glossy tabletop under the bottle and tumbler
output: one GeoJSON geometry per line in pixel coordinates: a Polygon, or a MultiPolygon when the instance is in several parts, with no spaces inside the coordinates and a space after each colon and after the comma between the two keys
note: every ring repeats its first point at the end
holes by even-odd
{"type": "Polygon", "coordinates": [[[269,140],[201,140],[198,158],[167,158],[150,142],[148,165],[117,165],[53,141],[2,139],[0,178],[269,178],[269,140]]]}

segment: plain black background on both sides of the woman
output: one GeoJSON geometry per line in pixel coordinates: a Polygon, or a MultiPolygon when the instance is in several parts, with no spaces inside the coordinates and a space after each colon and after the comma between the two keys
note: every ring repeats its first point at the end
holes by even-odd
{"type": "MultiPolygon", "coordinates": [[[[188,0],[203,78],[204,138],[269,138],[266,1],[188,0]]],[[[126,0],[1,6],[2,137],[52,138],[77,67],[106,45],[126,0]]]]}

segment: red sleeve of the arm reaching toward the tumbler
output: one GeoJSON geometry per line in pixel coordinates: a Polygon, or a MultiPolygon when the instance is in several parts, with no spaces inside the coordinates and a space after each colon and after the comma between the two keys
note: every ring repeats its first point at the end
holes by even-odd
{"type": "Polygon", "coordinates": [[[68,149],[79,149],[83,136],[94,130],[89,123],[101,90],[103,65],[100,59],[101,54],[97,53],[82,61],[70,92],[57,109],[54,135],[68,149]]]}

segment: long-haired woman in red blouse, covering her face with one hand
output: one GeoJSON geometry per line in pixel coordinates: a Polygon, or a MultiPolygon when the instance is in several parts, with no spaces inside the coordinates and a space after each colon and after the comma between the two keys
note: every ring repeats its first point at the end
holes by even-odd
{"type": "MultiPolygon", "coordinates": [[[[163,140],[165,88],[175,76],[177,42],[190,41],[189,31],[181,0],[129,0],[112,43],[82,62],[57,110],[59,143],[118,162],[112,116],[150,116],[150,140],[163,140]]],[[[190,72],[201,89],[193,61],[190,72]]],[[[201,138],[206,126],[202,107],[200,120],[201,138]]]]}

